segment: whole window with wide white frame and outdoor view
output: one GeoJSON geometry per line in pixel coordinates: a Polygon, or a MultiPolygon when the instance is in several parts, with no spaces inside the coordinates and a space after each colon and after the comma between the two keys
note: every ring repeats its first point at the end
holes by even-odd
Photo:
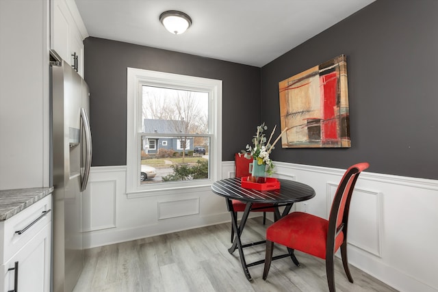
{"type": "Polygon", "coordinates": [[[222,81],[135,68],[127,76],[128,196],[216,181],[222,81]]]}

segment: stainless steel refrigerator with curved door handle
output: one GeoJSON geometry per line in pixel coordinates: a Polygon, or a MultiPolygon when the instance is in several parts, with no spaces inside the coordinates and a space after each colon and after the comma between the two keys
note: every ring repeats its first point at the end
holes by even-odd
{"type": "Polygon", "coordinates": [[[71,292],[83,268],[82,192],[90,174],[89,91],[51,51],[52,291],[71,292]]]}

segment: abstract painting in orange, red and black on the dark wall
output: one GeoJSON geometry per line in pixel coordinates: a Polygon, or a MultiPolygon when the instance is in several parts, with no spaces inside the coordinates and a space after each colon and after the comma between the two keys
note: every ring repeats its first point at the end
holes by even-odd
{"type": "Polygon", "coordinates": [[[345,55],[279,82],[279,95],[283,148],[350,147],[345,55]]]}

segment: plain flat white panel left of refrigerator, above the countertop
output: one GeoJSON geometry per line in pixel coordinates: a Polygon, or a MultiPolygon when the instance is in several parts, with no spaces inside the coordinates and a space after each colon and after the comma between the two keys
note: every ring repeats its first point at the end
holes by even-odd
{"type": "Polygon", "coordinates": [[[48,186],[49,0],[0,0],[0,68],[0,189],[48,186]]]}

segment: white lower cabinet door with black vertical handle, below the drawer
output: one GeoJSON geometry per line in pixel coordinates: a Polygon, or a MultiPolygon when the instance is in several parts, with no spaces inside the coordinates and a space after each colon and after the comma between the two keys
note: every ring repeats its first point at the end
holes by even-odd
{"type": "Polygon", "coordinates": [[[3,291],[49,292],[50,258],[51,223],[2,265],[3,291]]]}

